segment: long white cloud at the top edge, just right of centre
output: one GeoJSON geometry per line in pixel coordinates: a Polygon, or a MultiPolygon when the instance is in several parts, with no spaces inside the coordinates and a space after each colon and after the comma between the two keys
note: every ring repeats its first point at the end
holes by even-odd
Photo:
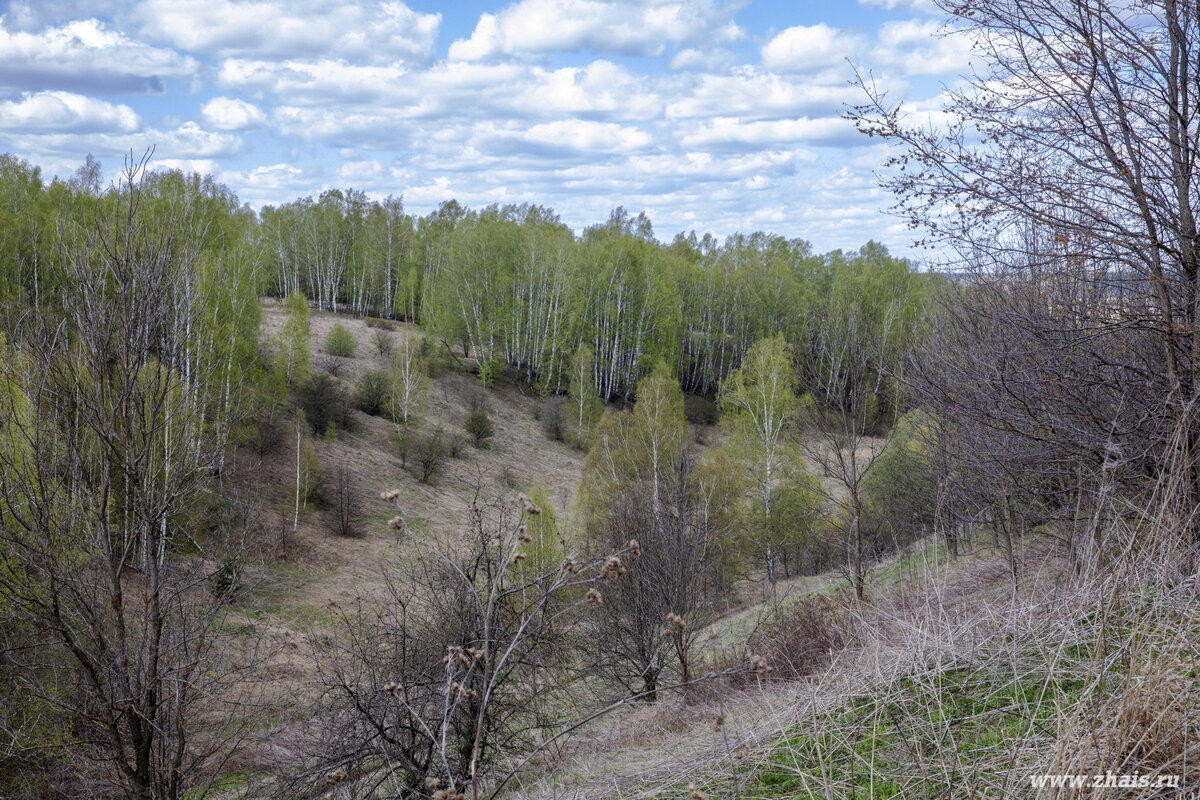
{"type": "Polygon", "coordinates": [[[450,46],[450,59],[577,50],[656,56],[667,42],[720,44],[743,36],[728,8],[706,0],[520,0],[480,16],[470,38],[450,46]]]}

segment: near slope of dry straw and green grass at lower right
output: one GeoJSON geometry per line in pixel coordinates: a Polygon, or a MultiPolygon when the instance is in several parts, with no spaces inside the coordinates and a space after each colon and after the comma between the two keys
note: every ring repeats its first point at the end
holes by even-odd
{"type": "Polygon", "coordinates": [[[922,558],[917,575],[898,564],[872,604],[842,607],[852,634],[817,674],[623,717],[520,796],[1171,796],[1030,780],[1106,770],[1195,787],[1195,583],[1068,581],[1049,542],[1025,551],[1015,594],[1000,555],[922,558]]]}

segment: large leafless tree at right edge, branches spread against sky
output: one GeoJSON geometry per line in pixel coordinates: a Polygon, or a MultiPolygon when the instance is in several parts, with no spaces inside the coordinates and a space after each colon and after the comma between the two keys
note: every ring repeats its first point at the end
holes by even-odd
{"type": "MultiPolygon", "coordinates": [[[[976,375],[962,403],[943,389],[943,408],[1020,438],[1022,450],[1052,444],[1061,473],[1091,475],[1094,487],[1102,473],[1178,465],[1183,505],[1194,506],[1200,12],[1175,0],[937,5],[978,56],[966,88],[947,94],[944,124],[916,124],[869,82],[854,116],[899,145],[890,166],[904,169],[884,181],[898,211],[978,270],[968,313],[1015,339],[976,371],[1004,387],[1003,409],[977,402],[976,375]],[[1055,384],[1069,405],[1063,425],[1033,391],[1048,378],[1064,379],[1055,384]],[[1184,437],[1169,435],[1181,426],[1184,437]]],[[[965,366],[944,355],[950,372],[965,366]]]]}

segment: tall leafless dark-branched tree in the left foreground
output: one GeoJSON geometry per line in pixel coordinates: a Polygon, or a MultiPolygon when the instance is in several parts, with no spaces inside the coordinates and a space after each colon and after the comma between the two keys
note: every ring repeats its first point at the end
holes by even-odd
{"type": "Polygon", "coordinates": [[[11,679],[70,717],[72,769],[97,765],[100,793],[178,800],[233,744],[211,733],[242,674],[214,649],[232,585],[214,577],[248,528],[204,511],[234,413],[204,230],[185,198],[146,200],[145,167],[64,212],[60,295],[0,359],[0,608],[70,676],[11,679]]]}

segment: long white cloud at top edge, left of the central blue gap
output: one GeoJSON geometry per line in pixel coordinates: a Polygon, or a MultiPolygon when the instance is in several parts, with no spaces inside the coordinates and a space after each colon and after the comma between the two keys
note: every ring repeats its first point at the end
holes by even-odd
{"type": "Polygon", "coordinates": [[[389,64],[425,60],[442,14],[403,2],[342,0],[145,0],[143,31],[184,50],[214,56],[304,55],[389,64]]]}

